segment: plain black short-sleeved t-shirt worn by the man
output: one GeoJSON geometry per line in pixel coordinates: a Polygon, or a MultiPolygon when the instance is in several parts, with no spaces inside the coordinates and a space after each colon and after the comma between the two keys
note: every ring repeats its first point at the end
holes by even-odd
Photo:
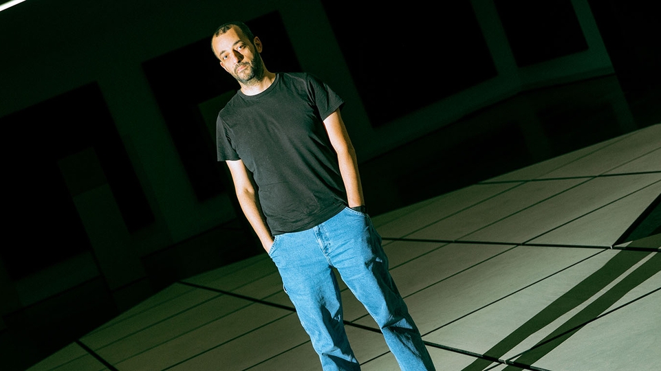
{"type": "Polygon", "coordinates": [[[238,91],[218,114],[218,161],[241,159],[252,172],[272,234],[309,229],[346,206],[323,124],[343,104],[318,78],[283,73],[257,95],[238,91]]]}

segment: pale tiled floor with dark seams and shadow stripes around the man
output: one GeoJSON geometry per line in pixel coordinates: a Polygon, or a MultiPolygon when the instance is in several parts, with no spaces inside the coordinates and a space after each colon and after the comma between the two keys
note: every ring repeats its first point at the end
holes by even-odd
{"type": "MultiPolygon", "coordinates": [[[[660,194],[658,124],[373,221],[438,370],[659,370],[661,234],[626,237],[660,218],[660,194]]],[[[343,300],[362,369],[399,370],[345,286],[343,300]]],[[[176,282],[30,368],[319,369],[266,254],[176,282]]]]}

